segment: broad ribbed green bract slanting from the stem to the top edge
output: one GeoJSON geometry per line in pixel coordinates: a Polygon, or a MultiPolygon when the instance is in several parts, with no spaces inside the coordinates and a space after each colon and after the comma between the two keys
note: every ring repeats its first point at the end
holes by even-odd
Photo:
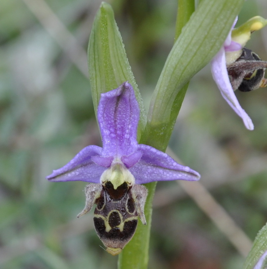
{"type": "MultiPolygon", "coordinates": [[[[148,113],[149,128],[172,129],[177,95],[219,51],[244,0],[202,0],[175,42],[161,72],[148,113]]],[[[182,101],[182,98],[180,98],[182,101]]],[[[151,130],[152,130],[151,129],[151,130]]]]}

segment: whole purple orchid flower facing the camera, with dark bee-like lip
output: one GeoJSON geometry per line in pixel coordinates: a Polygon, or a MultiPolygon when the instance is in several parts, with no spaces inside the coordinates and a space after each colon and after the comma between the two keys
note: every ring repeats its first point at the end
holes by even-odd
{"type": "Polygon", "coordinates": [[[101,94],[98,123],[103,147],[91,145],[68,164],[54,170],[50,181],[81,180],[86,187],[86,205],[78,217],[97,204],[95,230],[107,252],[119,254],[131,240],[138,216],[146,224],[145,186],[160,180],[198,180],[199,173],[175,162],[166,153],[136,140],[139,106],[128,82],[101,94]]]}

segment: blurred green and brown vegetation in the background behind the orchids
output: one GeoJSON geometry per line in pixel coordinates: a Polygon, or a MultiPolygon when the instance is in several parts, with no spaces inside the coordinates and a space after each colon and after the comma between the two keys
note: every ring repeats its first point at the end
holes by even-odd
{"type": "MultiPolygon", "coordinates": [[[[114,0],[127,56],[145,106],[174,40],[175,0],[114,0]]],[[[85,182],[46,175],[89,144],[101,146],[86,49],[98,0],[2,0],[0,10],[0,267],[115,269],[92,223],[81,219],[85,182]]],[[[247,0],[237,25],[267,18],[247,0]]],[[[267,60],[267,28],[247,46],[267,60]]],[[[170,148],[254,240],[267,221],[267,90],[236,92],[248,131],[221,97],[210,67],[188,88],[170,148]]],[[[244,257],[177,182],[154,200],[149,268],[241,268],[244,257]]],[[[209,206],[209,205],[208,205],[209,206]]],[[[140,224],[139,224],[140,225],[140,224]]]]}

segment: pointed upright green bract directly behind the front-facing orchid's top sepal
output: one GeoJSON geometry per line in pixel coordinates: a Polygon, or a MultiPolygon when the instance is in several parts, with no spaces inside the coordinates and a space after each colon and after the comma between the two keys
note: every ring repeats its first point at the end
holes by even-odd
{"type": "Polygon", "coordinates": [[[141,112],[138,131],[144,130],[146,116],[143,101],[126,56],[113,10],[105,2],[101,3],[92,26],[88,45],[88,68],[95,114],[100,94],[115,89],[128,80],[134,88],[141,112]]]}

